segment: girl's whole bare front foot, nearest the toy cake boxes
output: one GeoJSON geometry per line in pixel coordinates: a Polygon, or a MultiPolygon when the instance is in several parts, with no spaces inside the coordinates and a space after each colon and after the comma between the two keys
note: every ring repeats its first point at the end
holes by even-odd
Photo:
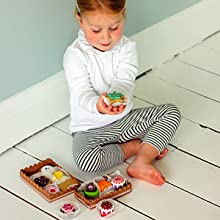
{"type": "Polygon", "coordinates": [[[127,168],[127,173],[131,177],[142,179],[155,185],[165,183],[165,177],[152,164],[134,161],[127,168]]]}

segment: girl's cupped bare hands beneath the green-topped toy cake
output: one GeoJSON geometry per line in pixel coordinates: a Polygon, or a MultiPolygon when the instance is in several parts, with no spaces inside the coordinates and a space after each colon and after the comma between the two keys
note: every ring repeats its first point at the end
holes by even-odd
{"type": "Polygon", "coordinates": [[[116,115],[120,114],[124,111],[125,105],[119,105],[119,106],[111,106],[111,105],[106,105],[103,99],[103,96],[106,96],[107,93],[102,94],[99,97],[98,103],[97,103],[97,110],[99,113],[102,114],[108,114],[108,115],[116,115]]]}

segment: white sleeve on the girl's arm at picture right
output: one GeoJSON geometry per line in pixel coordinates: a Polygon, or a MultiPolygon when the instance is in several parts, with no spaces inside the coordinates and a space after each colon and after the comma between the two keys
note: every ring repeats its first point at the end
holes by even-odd
{"type": "Polygon", "coordinates": [[[131,99],[135,88],[135,78],[138,73],[136,43],[129,40],[122,48],[119,59],[119,66],[110,92],[121,92],[131,99]]]}

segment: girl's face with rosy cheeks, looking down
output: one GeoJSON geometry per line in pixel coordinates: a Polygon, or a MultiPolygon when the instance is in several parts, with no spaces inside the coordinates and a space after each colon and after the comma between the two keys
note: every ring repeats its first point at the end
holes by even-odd
{"type": "Polygon", "coordinates": [[[117,14],[88,12],[78,19],[88,43],[100,51],[110,50],[122,37],[124,10],[117,14]]]}

